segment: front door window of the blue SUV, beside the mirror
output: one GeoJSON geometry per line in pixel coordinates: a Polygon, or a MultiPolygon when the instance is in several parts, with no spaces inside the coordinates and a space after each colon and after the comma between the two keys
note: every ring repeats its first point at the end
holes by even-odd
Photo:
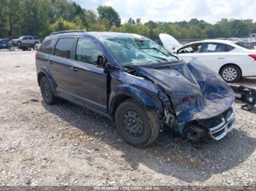
{"type": "Polygon", "coordinates": [[[75,61],[96,65],[98,55],[102,55],[102,51],[99,49],[97,44],[95,44],[93,39],[78,39],[78,44],[75,51],[75,61]]]}

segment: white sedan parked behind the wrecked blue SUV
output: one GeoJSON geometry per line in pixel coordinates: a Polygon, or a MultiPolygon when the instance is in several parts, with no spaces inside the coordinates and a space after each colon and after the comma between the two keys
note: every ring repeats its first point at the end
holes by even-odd
{"type": "MultiPolygon", "coordinates": [[[[162,44],[167,50],[170,49],[170,41],[164,39],[162,44]]],[[[169,51],[185,62],[192,59],[198,61],[216,71],[226,82],[256,76],[256,50],[248,50],[235,42],[209,39],[192,42],[176,48],[175,51],[169,51]]]]}

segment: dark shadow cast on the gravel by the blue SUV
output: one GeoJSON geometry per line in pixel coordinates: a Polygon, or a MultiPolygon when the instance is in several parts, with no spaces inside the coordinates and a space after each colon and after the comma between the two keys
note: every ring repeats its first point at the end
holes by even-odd
{"type": "Polygon", "coordinates": [[[137,149],[125,144],[116,133],[113,122],[75,104],[60,101],[54,106],[42,102],[49,112],[80,128],[89,136],[124,153],[134,170],[144,165],[159,174],[174,176],[184,182],[204,182],[243,163],[255,151],[256,139],[235,129],[220,141],[208,140],[192,144],[170,132],[159,133],[154,144],[137,149]]]}

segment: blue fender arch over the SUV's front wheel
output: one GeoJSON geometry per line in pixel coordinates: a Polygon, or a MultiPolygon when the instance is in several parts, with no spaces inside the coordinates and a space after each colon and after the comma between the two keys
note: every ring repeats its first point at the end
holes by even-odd
{"type": "Polygon", "coordinates": [[[154,104],[155,101],[153,101],[153,99],[142,90],[139,90],[136,87],[132,87],[131,85],[120,85],[116,87],[116,90],[113,90],[109,96],[108,111],[110,116],[113,112],[116,98],[118,98],[119,95],[129,96],[135,99],[135,101],[138,101],[138,103],[140,103],[143,106],[148,106],[153,109],[156,109],[157,114],[160,114],[163,111],[162,105],[154,104]]]}

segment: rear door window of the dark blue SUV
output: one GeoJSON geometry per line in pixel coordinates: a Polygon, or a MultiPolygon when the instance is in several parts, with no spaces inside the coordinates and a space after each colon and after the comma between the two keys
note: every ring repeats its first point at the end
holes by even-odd
{"type": "Polygon", "coordinates": [[[59,39],[55,47],[54,55],[70,59],[74,42],[75,39],[73,38],[59,39]]]}

